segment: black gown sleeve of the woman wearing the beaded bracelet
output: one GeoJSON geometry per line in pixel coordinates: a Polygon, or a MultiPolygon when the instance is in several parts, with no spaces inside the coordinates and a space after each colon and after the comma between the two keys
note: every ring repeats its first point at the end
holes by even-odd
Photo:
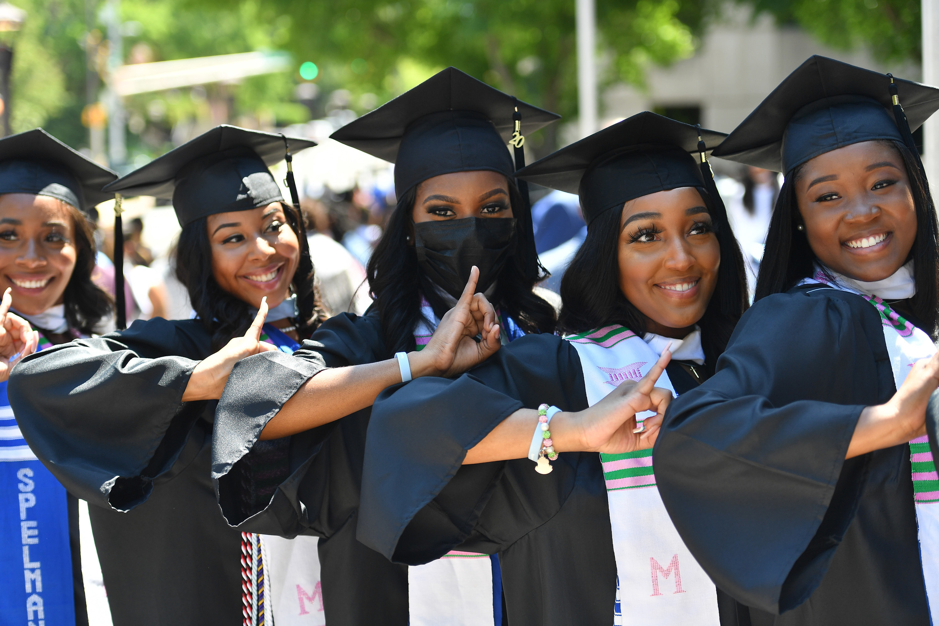
{"type": "Polygon", "coordinates": [[[480,552],[495,552],[553,515],[573,488],[578,454],[562,454],[546,476],[527,458],[462,465],[502,420],[542,403],[587,405],[577,351],[554,335],[503,345],[455,379],[418,378],[382,392],[366,442],[360,541],[417,565],[470,537],[489,544],[480,552]]]}

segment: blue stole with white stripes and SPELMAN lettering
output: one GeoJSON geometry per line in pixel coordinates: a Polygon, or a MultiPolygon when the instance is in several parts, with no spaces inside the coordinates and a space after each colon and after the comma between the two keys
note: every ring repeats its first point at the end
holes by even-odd
{"type": "MultiPolygon", "coordinates": [[[[51,345],[40,336],[37,350],[51,345]]],[[[0,624],[73,626],[66,490],[26,445],[6,381],[0,383],[0,490],[0,624]]]]}

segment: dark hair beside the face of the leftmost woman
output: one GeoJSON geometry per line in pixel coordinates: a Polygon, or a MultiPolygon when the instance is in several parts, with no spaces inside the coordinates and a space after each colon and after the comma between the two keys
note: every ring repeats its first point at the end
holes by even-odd
{"type": "Polygon", "coordinates": [[[91,334],[112,313],[114,300],[91,280],[95,271],[95,235],[91,225],[77,208],[62,204],[69,207],[76,251],[75,268],[63,297],[65,318],[69,328],[91,334]]]}

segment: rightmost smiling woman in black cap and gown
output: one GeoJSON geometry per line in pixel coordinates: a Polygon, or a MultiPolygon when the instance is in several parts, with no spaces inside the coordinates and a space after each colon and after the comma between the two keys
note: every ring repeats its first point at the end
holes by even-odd
{"type": "Polygon", "coordinates": [[[756,302],[670,408],[656,475],[747,623],[939,617],[939,229],[910,135],[937,107],[939,89],[813,56],[719,149],[786,179],[756,302]]]}

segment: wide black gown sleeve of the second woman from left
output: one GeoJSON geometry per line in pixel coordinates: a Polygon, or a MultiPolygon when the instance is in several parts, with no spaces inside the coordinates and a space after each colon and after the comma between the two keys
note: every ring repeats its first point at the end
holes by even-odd
{"type": "Polygon", "coordinates": [[[183,403],[182,394],[209,352],[197,321],[134,322],[23,359],[9,378],[10,405],[70,493],[128,511],[180,455],[192,460],[208,443],[190,441],[196,420],[211,420],[208,403],[183,403]]]}

